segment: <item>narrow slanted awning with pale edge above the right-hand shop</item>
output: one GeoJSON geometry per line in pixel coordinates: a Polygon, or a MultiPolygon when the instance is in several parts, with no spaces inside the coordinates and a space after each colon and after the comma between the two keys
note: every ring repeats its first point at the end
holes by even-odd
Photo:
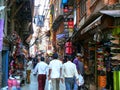
{"type": "Polygon", "coordinates": [[[86,26],[82,31],[81,31],[81,35],[86,33],[87,31],[91,30],[92,28],[98,26],[101,24],[101,18],[102,15],[99,16],[97,19],[95,19],[92,23],[90,23],[88,26],[86,26]]]}

